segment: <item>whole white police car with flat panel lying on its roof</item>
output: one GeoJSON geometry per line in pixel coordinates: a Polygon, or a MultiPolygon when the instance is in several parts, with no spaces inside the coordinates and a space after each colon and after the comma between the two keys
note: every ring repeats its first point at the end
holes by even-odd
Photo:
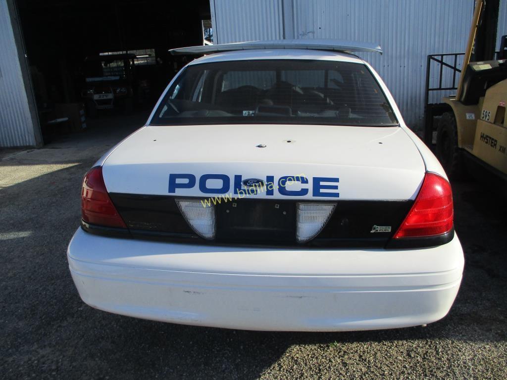
{"type": "Polygon", "coordinates": [[[362,330],[444,317],[463,252],[446,174],[404,124],[366,44],[215,53],[86,174],[68,247],[82,299],[133,317],[362,330]]]}

